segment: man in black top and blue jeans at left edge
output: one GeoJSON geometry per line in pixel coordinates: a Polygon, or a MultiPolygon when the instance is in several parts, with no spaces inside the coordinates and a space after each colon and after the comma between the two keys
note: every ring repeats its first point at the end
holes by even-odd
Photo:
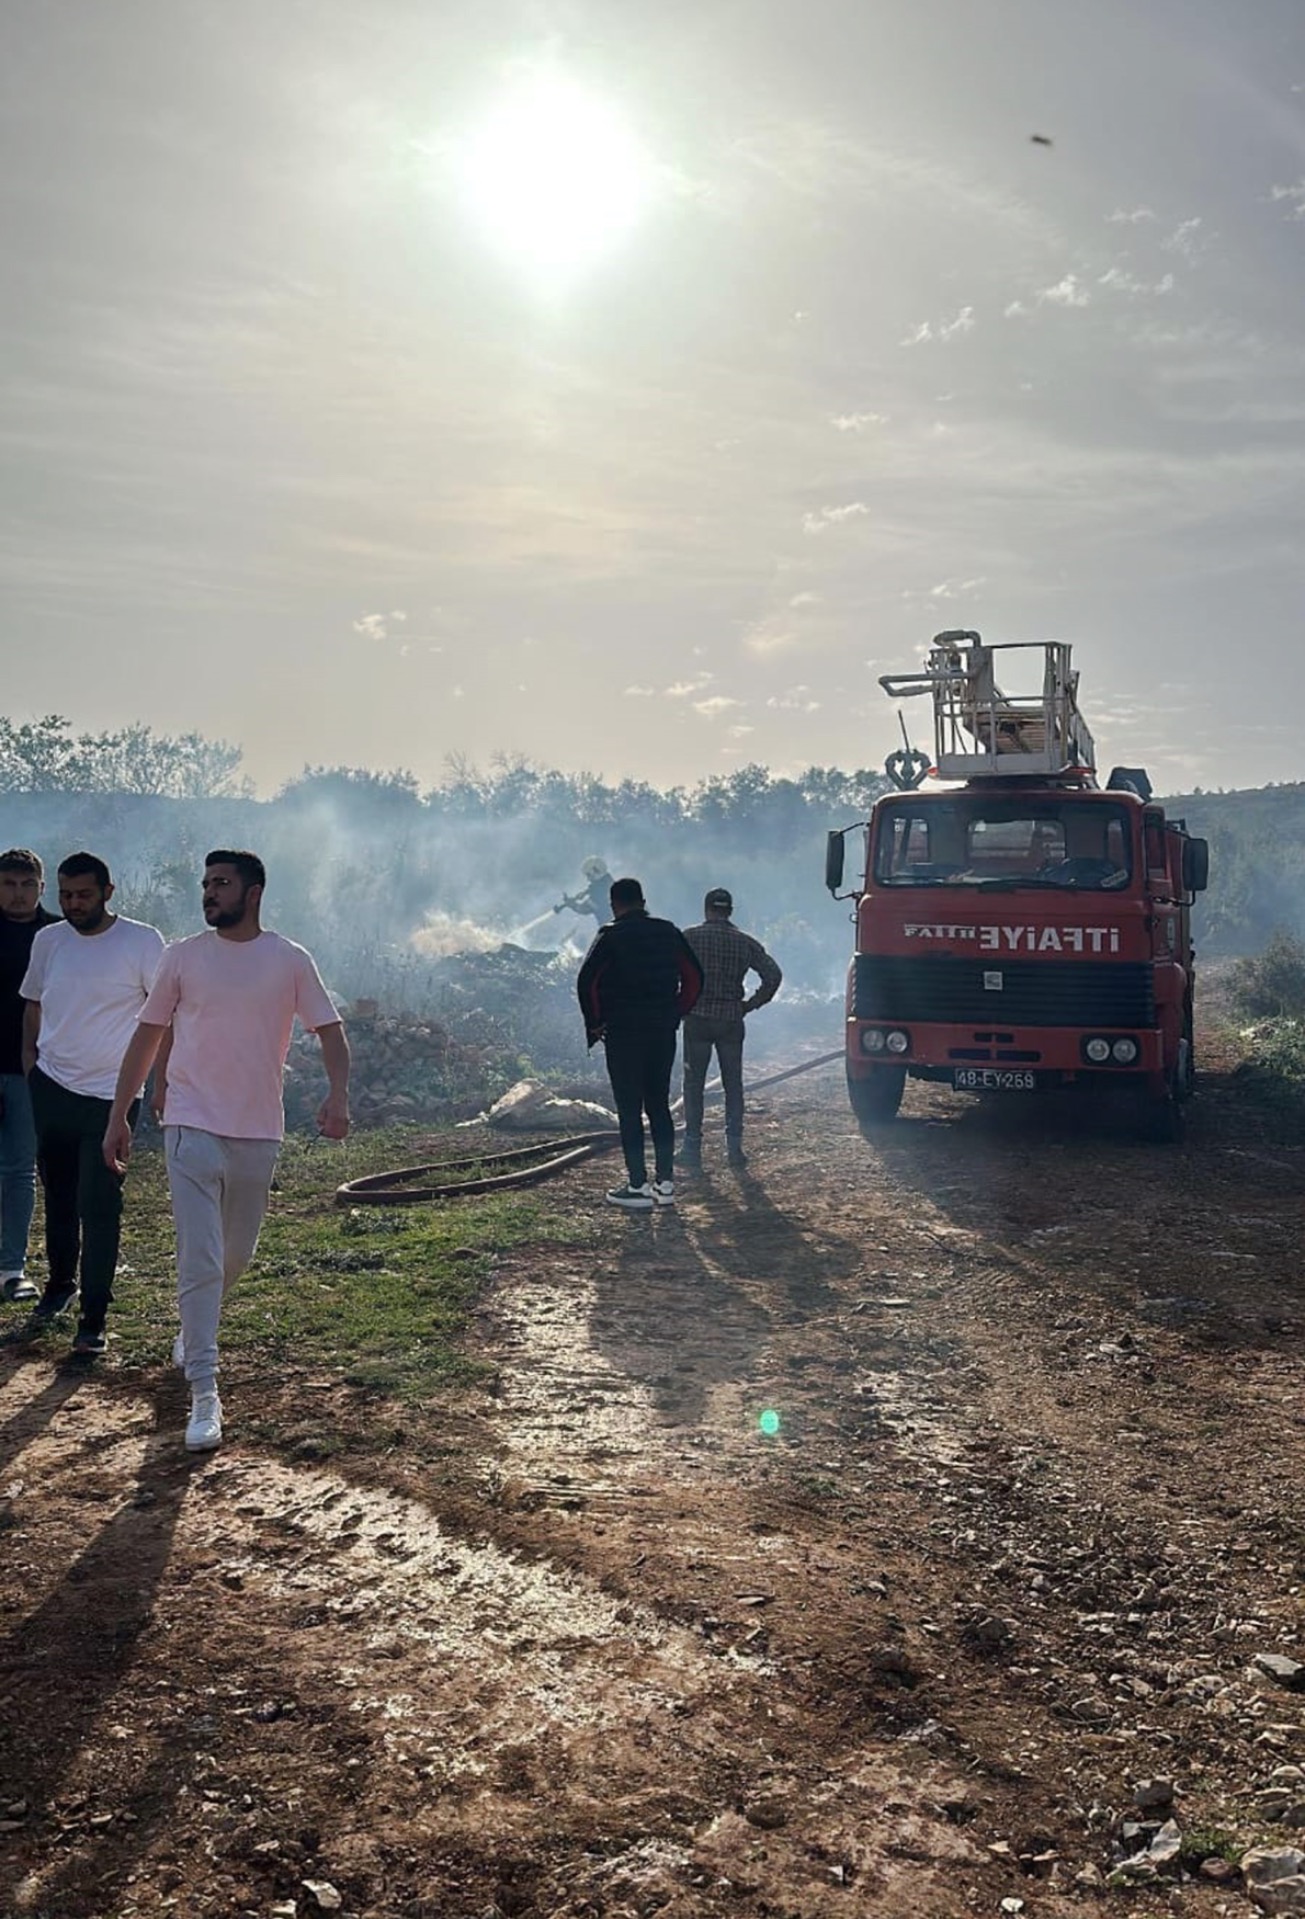
{"type": "Polygon", "coordinates": [[[44,867],[27,846],[0,852],[0,1297],[38,1297],[27,1278],[27,1232],[36,1205],[36,1128],[23,1073],[19,986],[42,927],[56,923],[40,904],[44,867]]]}

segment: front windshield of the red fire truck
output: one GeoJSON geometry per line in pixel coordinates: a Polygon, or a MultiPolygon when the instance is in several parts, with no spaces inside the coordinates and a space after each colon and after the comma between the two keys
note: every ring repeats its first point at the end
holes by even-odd
{"type": "Polygon", "coordinates": [[[1117,892],[1132,877],[1132,821],[1111,800],[919,796],[881,806],[881,887],[1052,887],[1117,892]]]}

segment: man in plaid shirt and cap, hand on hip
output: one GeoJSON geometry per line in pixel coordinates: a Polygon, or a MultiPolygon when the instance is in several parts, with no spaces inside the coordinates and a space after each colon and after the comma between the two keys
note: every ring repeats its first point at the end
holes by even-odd
{"type": "Polygon", "coordinates": [[[706,919],[685,927],[685,938],[702,967],[702,996],[685,1015],[685,1138],[679,1165],[695,1173],[702,1165],[702,1088],[712,1063],[720,1061],[725,1094],[725,1148],[731,1167],[747,1167],[743,1151],[743,1021],[779,992],[783,973],[760,940],[735,927],[733,896],[712,887],[702,900],[706,919]],[[756,973],[760,986],[745,1000],[743,981],[756,973]]]}

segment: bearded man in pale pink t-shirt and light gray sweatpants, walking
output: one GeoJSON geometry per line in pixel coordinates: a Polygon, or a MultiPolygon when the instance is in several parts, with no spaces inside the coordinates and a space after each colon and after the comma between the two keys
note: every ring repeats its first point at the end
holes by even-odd
{"type": "Polygon", "coordinates": [[[317,1032],[328,1092],[317,1126],[349,1130],[349,1046],[311,954],[259,925],[267,873],[251,852],[203,865],[207,933],[169,946],[123,1057],[104,1159],[127,1171],[130,1102],[171,1029],[163,1142],[177,1222],[178,1362],[190,1382],[186,1447],[223,1439],[217,1328],[223,1295],[259,1242],[286,1130],[282,1069],[296,1017],[317,1032]]]}

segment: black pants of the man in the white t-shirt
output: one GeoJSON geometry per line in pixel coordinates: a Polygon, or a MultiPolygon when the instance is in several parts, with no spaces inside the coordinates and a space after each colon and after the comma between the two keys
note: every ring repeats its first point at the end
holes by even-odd
{"type": "MultiPolygon", "coordinates": [[[[123,1224],[123,1180],[106,1167],[102,1151],[113,1102],[69,1092],[40,1067],[29,1086],[36,1173],[46,1192],[46,1290],[73,1290],[81,1268],[81,1320],[100,1332],[113,1299],[123,1224]]],[[[134,1100],[127,1115],[132,1126],[138,1111],[140,1100],[134,1100]]]]}

